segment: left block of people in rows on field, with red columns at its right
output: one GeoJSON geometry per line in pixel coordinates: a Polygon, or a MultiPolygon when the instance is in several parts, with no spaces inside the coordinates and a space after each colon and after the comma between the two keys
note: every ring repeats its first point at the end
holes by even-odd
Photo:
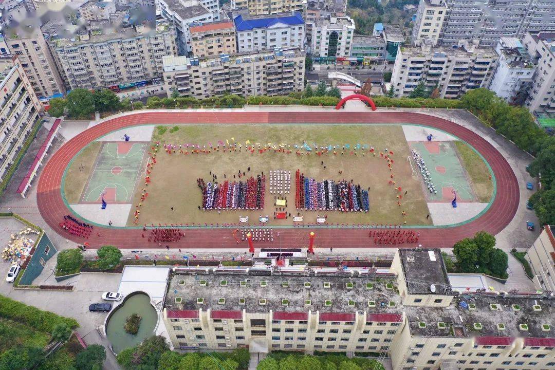
{"type": "Polygon", "coordinates": [[[264,175],[251,176],[246,181],[228,181],[222,184],[216,181],[204,183],[196,180],[203,194],[203,210],[261,210],[264,209],[264,190],[266,178],[264,175]]]}

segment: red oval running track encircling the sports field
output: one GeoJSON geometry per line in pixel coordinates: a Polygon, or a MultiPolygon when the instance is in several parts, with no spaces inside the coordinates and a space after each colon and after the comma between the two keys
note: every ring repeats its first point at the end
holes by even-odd
{"type": "MultiPolygon", "coordinates": [[[[75,136],[65,143],[48,161],[42,171],[37,189],[37,202],[39,211],[44,220],[57,230],[60,235],[78,243],[85,240],[60,230],[59,222],[64,215],[73,214],[65,205],[60,191],[62,175],[69,161],[80,149],[91,141],[103,136],[110,131],[139,124],[272,124],[272,123],[412,123],[430,126],[451,133],[465,140],[478,150],[488,161],[497,181],[497,194],[493,204],[485,214],[465,225],[454,227],[438,227],[418,229],[421,233],[420,241],[426,247],[452,247],[455,242],[465,237],[472,236],[477,231],[486,230],[491,234],[499,231],[511,222],[518,209],[519,190],[517,178],[511,166],[503,156],[480,135],[473,131],[435,116],[408,113],[408,112],[374,112],[374,113],[349,113],[349,112],[321,112],[321,113],[281,113],[281,112],[143,112],[113,118],[100,123],[83,133],[75,136]]],[[[77,216],[79,218],[79,216],[77,216]]],[[[86,220],[83,220],[87,222],[86,220]]],[[[281,241],[287,247],[306,247],[308,243],[307,227],[291,227],[280,229],[281,241]]],[[[317,229],[316,246],[321,248],[362,248],[385,247],[375,245],[370,238],[371,229],[317,229]]],[[[233,229],[185,229],[185,237],[179,242],[169,243],[172,248],[236,248],[246,247],[246,242],[238,245],[232,235],[233,229]]],[[[103,226],[94,226],[92,236],[86,240],[90,247],[102,245],[115,245],[120,248],[147,249],[155,248],[157,244],[149,243],[143,239],[142,229],[118,229],[103,226]],[[97,235],[100,232],[100,236],[97,235]]],[[[146,233],[145,233],[146,234],[146,233]]],[[[256,247],[273,247],[275,244],[258,242],[256,247]]],[[[414,244],[404,244],[392,247],[414,247],[414,244]]],[[[165,244],[163,245],[165,247],[165,244]]]]}

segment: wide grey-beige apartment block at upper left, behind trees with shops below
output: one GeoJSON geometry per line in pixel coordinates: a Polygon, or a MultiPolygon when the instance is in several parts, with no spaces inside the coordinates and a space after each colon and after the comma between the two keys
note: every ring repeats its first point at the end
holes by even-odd
{"type": "Polygon", "coordinates": [[[68,89],[117,88],[161,79],[166,55],[176,55],[175,28],[157,22],[154,36],[144,26],[110,27],[53,39],[51,47],[68,89]]]}

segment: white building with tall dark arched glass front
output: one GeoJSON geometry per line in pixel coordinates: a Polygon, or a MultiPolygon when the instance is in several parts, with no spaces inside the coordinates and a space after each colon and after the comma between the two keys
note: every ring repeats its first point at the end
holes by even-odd
{"type": "Polygon", "coordinates": [[[317,18],[310,22],[310,52],[315,57],[349,57],[355,22],[346,17],[317,18]]]}

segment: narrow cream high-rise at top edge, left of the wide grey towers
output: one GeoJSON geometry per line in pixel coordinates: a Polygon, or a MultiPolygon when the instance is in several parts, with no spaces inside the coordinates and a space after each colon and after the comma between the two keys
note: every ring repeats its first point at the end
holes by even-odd
{"type": "Polygon", "coordinates": [[[436,45],[440,40],[441,28],[447,15],[445,0],[421,0],[418,3],[416,19],[412,27],[411,44],[419,45],[423,40],[429,40],[436,45]]]}

